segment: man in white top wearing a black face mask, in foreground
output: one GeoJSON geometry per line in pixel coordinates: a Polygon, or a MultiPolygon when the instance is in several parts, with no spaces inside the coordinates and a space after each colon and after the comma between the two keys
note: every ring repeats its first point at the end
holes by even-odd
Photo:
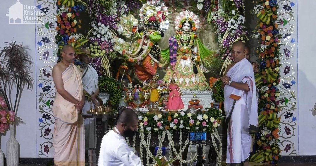
{"type": "Polygon", "coordinates": [[[98,166],[143,166],[124,139],[134,137],[137,126],[138,116],[133,110],[123,108],[119,111],[115,128],[102,139],[98,166]]]}

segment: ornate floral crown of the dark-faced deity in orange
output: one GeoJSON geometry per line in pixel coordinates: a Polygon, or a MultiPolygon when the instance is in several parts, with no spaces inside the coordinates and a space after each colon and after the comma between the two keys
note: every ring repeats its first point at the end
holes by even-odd
{"type": "Polygon", "coordinates": [[[148,24],[150,21],[156,21],[160,23],[159,28],[161,30],[166,30],[169,27],[168,20],[168,8],[165,3],[161,3],[159,0],[151,0],[143,4],[140,9],[140,18],[144,24],[148,24]]]}

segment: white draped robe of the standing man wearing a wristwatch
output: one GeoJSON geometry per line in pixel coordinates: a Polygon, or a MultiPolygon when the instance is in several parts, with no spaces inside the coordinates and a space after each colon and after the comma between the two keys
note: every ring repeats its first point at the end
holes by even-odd
{"type": "Polygon", "coordinates": [[[226,163],[241,163],[250,155],[250,129],[258,127],[258,100],[252,65],[244,58],[227,72],[227,76],[231,81],[247,83],[250,89],[245,92],[228,85],[224,87],[226,117],[232,111],[234,99],[231,97],[240,97],[228,122],[226,163]]]}

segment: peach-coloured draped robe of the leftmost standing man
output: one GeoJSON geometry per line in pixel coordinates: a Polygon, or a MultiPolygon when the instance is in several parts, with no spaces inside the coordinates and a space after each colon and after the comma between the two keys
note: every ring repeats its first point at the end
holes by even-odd
{"type": "MultiPolygon", "coordinates": [[[[62,73],[64,89],[78,101],[82,100],[82,73],[70,64],[62,73]]],[[[54,128],[54,163],[58,166],[84,166],[84,126],[76,105],[65,100],[56,90],[52,107],[54,128]]]]}

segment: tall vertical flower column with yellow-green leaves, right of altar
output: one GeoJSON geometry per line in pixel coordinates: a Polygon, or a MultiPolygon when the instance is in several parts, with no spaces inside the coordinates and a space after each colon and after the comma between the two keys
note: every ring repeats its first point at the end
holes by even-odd
{"type": "Polygon", "coordinates": [[[254,30],[253,37],[257,38],[260,45],[257,47],[259,55],[259,72],[256,75],[256,85],[259,89],[259,133],[256,134],[258,151],[250,158],[250,162],[278,163],[281,153],[279,147],[280,105],[280,39],[278,24],[279,6],[276,0],[258,0],[252,14],[259,19],[258,29],[254,30]]]}

